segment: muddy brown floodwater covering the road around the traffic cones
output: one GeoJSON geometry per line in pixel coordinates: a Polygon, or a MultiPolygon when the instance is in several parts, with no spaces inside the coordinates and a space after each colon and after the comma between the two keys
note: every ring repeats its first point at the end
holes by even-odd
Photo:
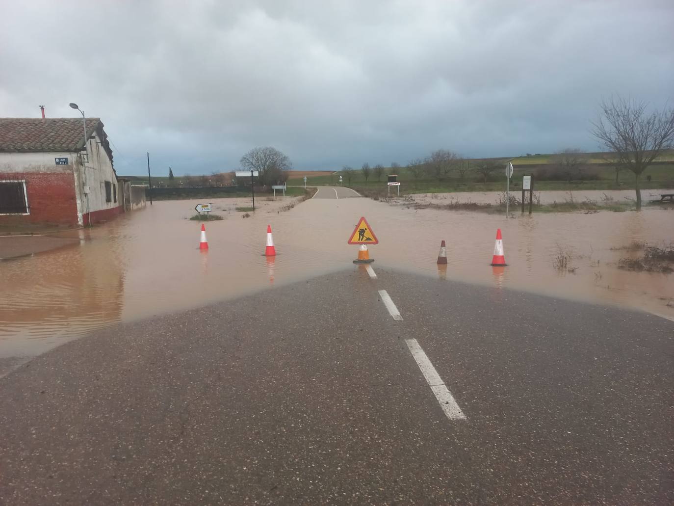
{"type": "Polygon", "coordinates": [[[674,319],[674,275],[617,269],[620,258],[639,252],[615,249],[635,241],[670,244],[671,210],[505,219],[406,209],[367,198],[315,198],[280,211],[292,200],[260,202],[262,207],[247,219],[233,210],[247,200],[213,200],[225,219],[206,224],[208,252],[198,249],[200,223],[187,219],[197,201],[178,200],[73,231],[78,241],[58,250],[0,262],[0,360],[34,356],[117,322],[354,269],[357,246],[346,240],[361,215],[379,239],[370,248],[375,270],[394,267],[495,289],[619,304],[674,319]],[[262,256],[268,224],[278,252],[271,259],[262,256]],[[509,264],[501,269],[489,266],[498,227],[509,264]],[[441,240],[447,242],[448,266],[440,271],[435,260],[441,240]],[[574,272],[555,269],[560,252],[570,257],[574,272]]]}

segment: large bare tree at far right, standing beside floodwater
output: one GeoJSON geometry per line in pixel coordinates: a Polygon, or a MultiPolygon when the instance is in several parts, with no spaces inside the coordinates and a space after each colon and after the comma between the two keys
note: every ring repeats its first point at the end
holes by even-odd
{"type": "Polygon", "coordinates": [[[663,150],[674,148],[674,108],[648,113],[645,102],[617,97],[602,101],[592,136],[634,173],[636,208],[641,208],[639,177],[663,150]]]}

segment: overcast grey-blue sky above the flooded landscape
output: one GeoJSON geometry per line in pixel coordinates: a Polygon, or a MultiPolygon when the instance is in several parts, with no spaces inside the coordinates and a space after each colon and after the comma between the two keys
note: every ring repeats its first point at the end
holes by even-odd
{"type": "Polygon", "coordinates": [[[0,0],[0,116],[100,117],[120,175],[598,150],[602,97],[674,101],[674,2],[0,0]]]}

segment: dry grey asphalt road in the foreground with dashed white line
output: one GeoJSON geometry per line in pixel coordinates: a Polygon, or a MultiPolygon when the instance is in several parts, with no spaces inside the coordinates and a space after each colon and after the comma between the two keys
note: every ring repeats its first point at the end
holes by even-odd
{"type": "Polygon", "coordinates": [[[1,378],[0,503],[674,503],[673,322],[372,267],[1,378]]]}

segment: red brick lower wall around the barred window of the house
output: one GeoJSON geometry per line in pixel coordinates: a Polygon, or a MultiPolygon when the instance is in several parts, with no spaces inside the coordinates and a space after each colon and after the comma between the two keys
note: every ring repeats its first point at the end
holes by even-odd
{"type": "Polygon", "coordinates": [[[72,172],[0,173],[2,179],[26,179],[30,215],[0,215],[0,223],[78,224],[75,175],[72,172]]]}

